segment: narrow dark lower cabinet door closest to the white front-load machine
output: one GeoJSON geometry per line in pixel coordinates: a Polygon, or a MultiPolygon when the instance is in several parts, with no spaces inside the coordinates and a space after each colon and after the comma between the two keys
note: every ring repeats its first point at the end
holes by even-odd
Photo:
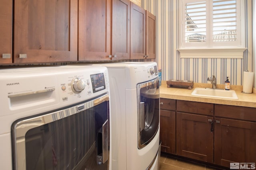
{"type": "Polygon", "coordinates": [[[175,111],[160,110],[160,140],[161,151],[176,153],[176,113],[175,111]]]}

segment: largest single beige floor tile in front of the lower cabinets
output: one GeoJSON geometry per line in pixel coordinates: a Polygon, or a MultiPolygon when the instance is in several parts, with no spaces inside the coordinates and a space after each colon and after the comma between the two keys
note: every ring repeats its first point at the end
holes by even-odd
{"type": "Polygon", "coordinates": [[[194,162],[182,161],[176,158],[166,157],[164,160],[165,164],[170,164],[176,167],[188,169],[188,170],[205,170],[205,166],[201,164],[196,164],[194,162]]]}

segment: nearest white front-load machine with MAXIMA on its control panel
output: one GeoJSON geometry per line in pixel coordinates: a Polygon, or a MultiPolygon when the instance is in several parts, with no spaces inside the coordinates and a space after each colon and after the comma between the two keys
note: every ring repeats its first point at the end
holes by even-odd
{"type": "Polygon", "coordinates": [[[1,169],[108,170],[109,94],[103,66],[0,69],[1,169]]]}

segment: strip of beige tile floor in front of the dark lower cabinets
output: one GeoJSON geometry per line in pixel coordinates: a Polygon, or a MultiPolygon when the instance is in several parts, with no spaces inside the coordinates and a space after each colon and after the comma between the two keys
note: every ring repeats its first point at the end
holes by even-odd
{"type": "Polygon", "coordinates": [[[180,160],[178,158],[162,155],[160,157],[160,170],[221,170],[218,168],[180,160]]]}

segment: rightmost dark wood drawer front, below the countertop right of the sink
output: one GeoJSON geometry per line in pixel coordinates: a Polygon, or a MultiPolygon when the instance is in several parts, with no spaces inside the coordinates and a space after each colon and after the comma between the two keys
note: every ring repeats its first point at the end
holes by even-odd
{"type": "Polygon", "coordinates": [[[214,114],[221,117],[256,121],[256,108],[254,107],[215,104],[214,114]]]}

